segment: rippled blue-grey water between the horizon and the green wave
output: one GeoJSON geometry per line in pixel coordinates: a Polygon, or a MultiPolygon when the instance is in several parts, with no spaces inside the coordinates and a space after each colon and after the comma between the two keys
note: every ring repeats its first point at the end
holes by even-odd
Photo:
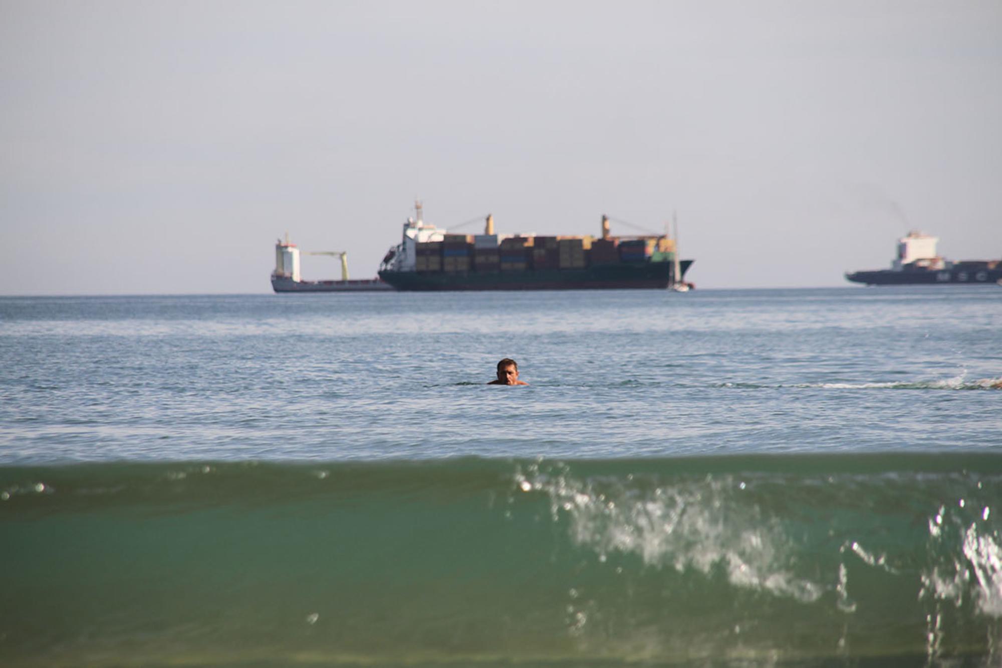
{"type": "Polygon", "coordinates": [[[5,464],[1002,446],[994,286],[8,297],[0,362],[5,464]]]}

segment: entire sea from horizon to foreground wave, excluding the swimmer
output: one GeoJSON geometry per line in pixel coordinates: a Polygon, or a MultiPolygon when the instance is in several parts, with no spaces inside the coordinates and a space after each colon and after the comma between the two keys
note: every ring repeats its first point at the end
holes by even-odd
{"type": "Polygon", "coordinates": [[[0,297],[0,666],[1000,666],[1000,382],[994,285],[0,297]]]}

